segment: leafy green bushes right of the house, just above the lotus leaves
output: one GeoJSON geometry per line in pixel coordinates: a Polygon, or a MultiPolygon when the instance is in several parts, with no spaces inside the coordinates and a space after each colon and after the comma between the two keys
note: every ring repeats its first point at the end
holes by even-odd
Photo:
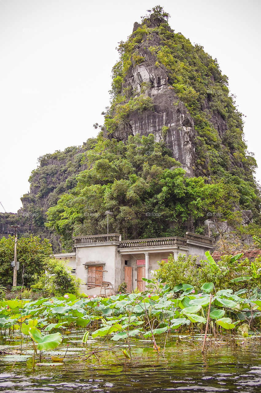
{"type": "Polygon", "coordinates": [[[223,255],[217,262],[206,252],[207,260],[196,264],[196,257],[178,255],[177,260],[170,255],[167,261],[159,261],[156,277],[167,283],[171,289],[183,284],[193,285],[197,290],[210,282],[215,290],[231,289],[251,296],[261,291],[261,251],[260,256],[250,262],[243,253],[223,255]]]}

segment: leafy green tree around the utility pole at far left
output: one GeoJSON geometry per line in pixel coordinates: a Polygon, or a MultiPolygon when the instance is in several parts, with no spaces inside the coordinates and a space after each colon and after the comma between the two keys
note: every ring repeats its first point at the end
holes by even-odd
{"type": "MultiPolygon", "coordinates": [[[[0,283],[13,284],[13,268],[15,237],[0,239],[0,283]]],[[[51,244],[47,239],[38,236],[21,237],[17,241],[17,261],[20,268],[17,271],[17,285],[30,285],[34,282],[33,275],[44,271],[46,259],[50,257],[51,244]]]]}

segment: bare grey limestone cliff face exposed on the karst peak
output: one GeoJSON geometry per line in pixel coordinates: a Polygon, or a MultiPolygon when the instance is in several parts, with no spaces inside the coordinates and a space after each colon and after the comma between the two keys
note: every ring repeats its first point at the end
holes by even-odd
{"type": "MultiPolygon", "coordinates": [[[[134,29],[138,26],[140,25],[134,24],[134,29]]],[[[132,112],[125,125],[118,127],[110,137],[126,141],[129,135],[154,134],[156,141],[165,141],[173,151],[173,157],[192,176],[196,156],[194,121],[185,104],[178,100],[174,89],[169,85],[166,68],[155,65],[156,56],[148,48],[159,44],[159,37],[155,33],[145,47],[143,43],[137,46],[138,55],[145,61],[130,66],[121,90],[121,94],[129,89],[135,92],[135,96],[144,94],[151,97],[154,110],[132,112]]]]}

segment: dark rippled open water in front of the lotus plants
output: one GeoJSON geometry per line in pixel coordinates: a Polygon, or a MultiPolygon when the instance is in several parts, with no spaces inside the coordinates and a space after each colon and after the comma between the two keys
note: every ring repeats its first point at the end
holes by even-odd
{"type": "MultiPolygon", "coordinates": [[[[150,343],[136,342],[132,362],[128,361],[126,367],[118,347],[115,353],[101,353],[99,362],[95,356],[85,361],[68,357],[64,365],[36,366],[34,372],[31,359],[14,366],[1,360],[0,391],[260,392],[260,349],[259,343],[252,343],[237,349],[209,349],[203,356],[200,347],[169,343],[163,357],[151,349],[150,343]]],[[[48,356],[44,361],[48,362],[48,356]]]]}

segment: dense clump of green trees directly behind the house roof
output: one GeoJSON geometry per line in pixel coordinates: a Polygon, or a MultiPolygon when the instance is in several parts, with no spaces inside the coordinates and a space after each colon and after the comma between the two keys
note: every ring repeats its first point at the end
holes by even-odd
{"type": "Polygon", "coordinates": [[[130,136],[126,144],[101,138],[85,153],[85,163],[89,169],[77,176],[77,186],[48,210],[48,227],[62,235],[68,249],[72,232],[106,233],[108,209],[110,232],[124,239],[183,235],[189,221],[200,230],[207,211],[230,220],[237,215],[236,187],[188,178],[152,134],[130,136]]]}

